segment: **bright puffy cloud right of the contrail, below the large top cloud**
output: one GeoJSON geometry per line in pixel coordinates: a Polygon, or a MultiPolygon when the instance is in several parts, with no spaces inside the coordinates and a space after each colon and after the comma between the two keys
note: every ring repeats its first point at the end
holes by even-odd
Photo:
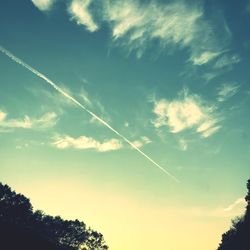
{"type": "Polygon", "coordinates": [[[214,109],[215,107],[206,104],[199,96],[184,93],[177,100],[156,101],[153,112],[157,118],[153,124],[156,128],[168,126],[172,133],[195,129],[203,137],[209,137],[220,128],[214,109]]]}

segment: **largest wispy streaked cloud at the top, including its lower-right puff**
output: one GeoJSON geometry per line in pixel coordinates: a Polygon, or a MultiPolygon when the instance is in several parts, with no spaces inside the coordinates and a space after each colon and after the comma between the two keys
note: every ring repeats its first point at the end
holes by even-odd
{"type": "Polygon", "coordinates": [[[140,57],[155,41],[161,49],[186,48],[194,65],[210,62],[224,51],[230,39],[223,22],[224,42],[216,36],[212,20],[207,20],[201,2],[138,0],[105,1],[104,20],[109,23],[115,42],[140,57]]]}

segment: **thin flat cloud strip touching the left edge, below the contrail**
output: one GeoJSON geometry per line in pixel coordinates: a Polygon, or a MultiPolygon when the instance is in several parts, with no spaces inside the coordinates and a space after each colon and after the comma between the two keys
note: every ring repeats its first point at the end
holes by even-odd
{"type": "Polygon", "coordinates": [[[0,110],[1,128],[45,129],[55,126],[57,122],[57,115],[54,112],[45,113],[39,118],[30,118],[25,115],[23,119],[7,119],[7,115],[7,113],[0,110]]]}

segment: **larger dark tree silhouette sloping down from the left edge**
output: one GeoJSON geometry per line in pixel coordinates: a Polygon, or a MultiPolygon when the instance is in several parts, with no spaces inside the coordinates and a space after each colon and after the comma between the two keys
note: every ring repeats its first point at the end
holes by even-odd
{"type": "Polygon", "coordinates": [[[25,196],[0,183],[0,249],[106,250],[103,235],[79,220],[33,212],[25,196]]]}

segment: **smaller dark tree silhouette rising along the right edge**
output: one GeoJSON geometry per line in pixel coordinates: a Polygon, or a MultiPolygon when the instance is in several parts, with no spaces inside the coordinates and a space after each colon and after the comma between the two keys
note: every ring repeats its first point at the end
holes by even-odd
{"type": "Polygon", "coordinates": [[[247,182],[246,212],[232,221],[231,228],[222,235],[218,250],[250,249],[250,179],[247,182]]]}

